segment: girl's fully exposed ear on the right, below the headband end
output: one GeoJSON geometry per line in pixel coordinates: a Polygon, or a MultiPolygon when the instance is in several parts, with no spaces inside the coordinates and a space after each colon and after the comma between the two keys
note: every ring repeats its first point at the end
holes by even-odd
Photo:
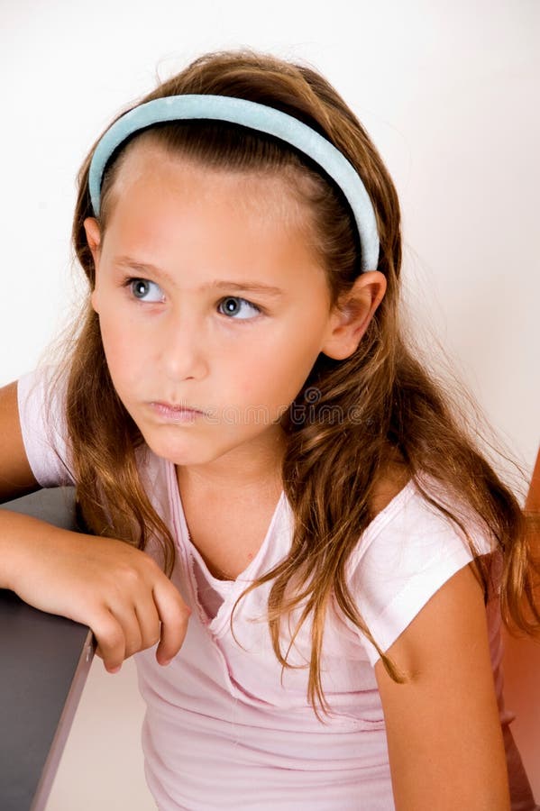
{"type": "Polygon", "coordinates": [[[334,306],[329,334],[321,351],[334,360],[349,358],[358,348],[385,293],[386,277],[380,270],[362,273],[334,306]]]}

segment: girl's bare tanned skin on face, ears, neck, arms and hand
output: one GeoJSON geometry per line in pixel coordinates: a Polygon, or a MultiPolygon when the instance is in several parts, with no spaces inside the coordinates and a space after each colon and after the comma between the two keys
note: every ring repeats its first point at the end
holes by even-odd
{"type": "MultiPolygon", "coordinates": [[[[347,299],[331,307],[324,271],[305,238],[306,213],[278,179],[207,172],[142,144],[127,156],[116,191],[105,233],[94,218],[85,221],[96,264],[92,304],[114,386],[151,449],[175,464],[198,548],[211,567],[227,567],[225,576],[234,577],[257,550],[275,506],[283,407],[319,352],[343,359],[356,349],[385,279],[378,271],[362,274],[347,299]],[[152,269],[121,268],[119,256],[152,269]],[[248,283],[280,294],[255,294],[248,283]],[[235,317],[224,312],[225,299],[239,304],[235,317]],[[179,422],[156,402],[206,415],[179,422]],[[250,416],[253,406],[264,406],[265,421],[250,416]],[[236,419],[225,419],[232,413],[236,419]],[[239,516],[254,516],[243,534],[240,518],[225,527],[224,558],[209,540],[214,533],[196,523],[211,512],[209,493],[210,525],[235,502],[239,516]]],[[[0,492],[36,488],[15,384],[0,391],[0,429],[8,437],[0,492]]],[[[403,484],[391,476],[381,482],[377,509],[403,484]]],[[[178,652],[188,611],[148,555],[32,522],[0,516],[0,586],[90,624],[108,670],[158,639],[160,663],[178,652]]],[[[398,811],[507,811],[486,617],[470,567],[435,593],[388,653],[409,677],[396,684],[380,661],[375,665],[398,811]]]]}

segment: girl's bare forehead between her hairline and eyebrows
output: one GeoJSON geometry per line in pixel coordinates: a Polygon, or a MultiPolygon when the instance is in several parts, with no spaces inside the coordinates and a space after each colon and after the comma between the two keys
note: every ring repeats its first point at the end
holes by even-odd
{"type": "Polygon", "coordinates": [[[105,253],[205,272],[257,269],[261,278],[299,268],[325,275],[308,206],[286,178],[208,169],[156,144],[136,146],[106,205],[105,253]]]}

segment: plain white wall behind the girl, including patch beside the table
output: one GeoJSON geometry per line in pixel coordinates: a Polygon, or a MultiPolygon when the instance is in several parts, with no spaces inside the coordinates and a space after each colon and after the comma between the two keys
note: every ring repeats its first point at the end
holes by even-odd
{"type": "MultiPolygon", "coordinates": [[[[32,369],[69,320],[75,178],[97,134],[158,75],[242,45],[311,63],[365,124],[398,187],[416,332],[427,351],[441,342],[530,475],[540,437],[536,0],[0,0],[0,384],[32,369]]],[[[141,721],[133,661],[109,676],[96,660],[48,811],[153,808],[141,721]]]]}

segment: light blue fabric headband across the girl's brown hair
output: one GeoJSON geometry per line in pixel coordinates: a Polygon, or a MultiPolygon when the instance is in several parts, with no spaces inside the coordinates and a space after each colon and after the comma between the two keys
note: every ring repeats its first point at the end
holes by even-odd
{"type": "Polygon", "coordinates": [[[156,98],[134,107],[115,121],[98,142],[90,163],[88,186],[94,214],[107,160],[133,132],[151,124],[205,118],[228,121],[274,135],[315,160],[342,189],[351,205],[362,245],[362,271],[375,270],[379,261],[379,235],[375,213],[358,172],[334,144],[292,115],[273,107],[232,96],[185,95],[156,98]]]}

